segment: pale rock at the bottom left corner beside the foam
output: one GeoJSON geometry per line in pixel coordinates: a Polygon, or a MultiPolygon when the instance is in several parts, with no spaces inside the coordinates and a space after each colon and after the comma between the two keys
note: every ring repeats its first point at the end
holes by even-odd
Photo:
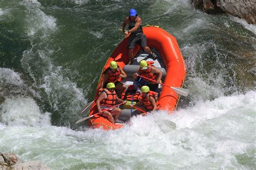
{"type": "Polygon", "coordinates": [[[49,170],[41,161],[21,162],[14,153],[1,153],[0,169],[41,169],[49,170]]]}

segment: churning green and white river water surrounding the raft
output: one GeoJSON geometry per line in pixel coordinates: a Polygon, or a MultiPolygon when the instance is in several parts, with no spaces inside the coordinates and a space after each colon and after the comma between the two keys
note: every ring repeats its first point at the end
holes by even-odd
{"type": "Polygon", "coordinates": [[[2,0],[0,152],[52,169],[254,169],[255,34],[188,0],[2,0]],[[75,126],[131,8],[177,38],[191,94],[120,130],[75,126]]]}

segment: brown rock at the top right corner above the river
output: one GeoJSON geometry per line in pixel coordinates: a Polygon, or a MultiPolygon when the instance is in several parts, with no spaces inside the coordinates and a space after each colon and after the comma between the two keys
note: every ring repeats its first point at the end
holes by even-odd
{"type": "Polygon", "coordinates": [[[245,19],[249,24],[256,24],[255,0],[192,0],[195,8],[206,13],[229,13],[245,19]]]}

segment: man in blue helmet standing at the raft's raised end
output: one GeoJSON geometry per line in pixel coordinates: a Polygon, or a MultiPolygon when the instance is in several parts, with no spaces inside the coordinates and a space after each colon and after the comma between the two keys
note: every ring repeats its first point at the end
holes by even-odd
{"type": "Polygon", "coordinates": [[[149,54],[156,58],[157,55],[155,55],[151,50],[150,47],[147,46],[147,39],[146,36],[143,34],[142,30],[142,18],[138,17],[136,10],[131,9],[130,10],[130,16],[125,17],[123,22],[123,28],[122,31],[124,35],[130,35],[128,39],[127,48],[129,49],[129,62],[128,64],[131,64],[133,59],[133,49],[135,44],[139,44],[144,51],[149,52],[149,54]],[[128,32],[125,32],[125,26],[129,25],[128,32]]]}

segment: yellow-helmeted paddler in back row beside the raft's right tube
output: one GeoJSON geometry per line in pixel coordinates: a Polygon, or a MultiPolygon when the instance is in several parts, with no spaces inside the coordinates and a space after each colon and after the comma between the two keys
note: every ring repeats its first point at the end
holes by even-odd
{"type": "Polygon", "coordinates": [[[150,81],[142,77],[139,77],[139,80],[143,79],[144,83],[146,83],[145,85],[149,86],[152,91],[159,92],[158,87],[159,87],[159,83],[161,83],[161,78],[163,76],[163,73],[160,70],[158,70],[156,67],[150,64],[151,62],[146,62],[146,60],[141,60],[139,62],[139,68],[137,72],[133,74],[133,78],[137,79],[139,77],[138,76],[139,74],[140,76],[157,81],[157,82],[154,82],[154,81],[150,81]]]}

